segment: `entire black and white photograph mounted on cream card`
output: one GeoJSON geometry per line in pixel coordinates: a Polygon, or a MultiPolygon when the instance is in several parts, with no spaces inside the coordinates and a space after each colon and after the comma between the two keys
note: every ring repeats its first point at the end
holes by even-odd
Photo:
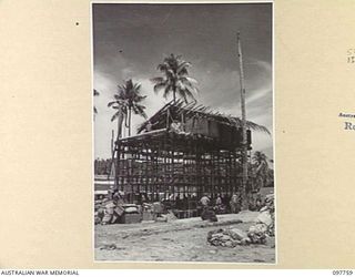
{"type": "Polygon", "coordinates": [[[273,3],[91,13],[94,260],[275,264],[273,3]]]}

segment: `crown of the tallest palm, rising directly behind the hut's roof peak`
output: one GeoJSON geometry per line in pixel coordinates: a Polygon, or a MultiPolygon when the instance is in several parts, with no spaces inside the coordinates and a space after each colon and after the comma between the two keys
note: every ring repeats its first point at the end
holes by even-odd
{"type": "Polygon", "coordinates": [[[171,54],[163,60],[163,63],[158,65],[158,70],[163,76],[151,79],[154,83],[154,92],[164,90],[163,96],[166,99],[170,93],[173,93],[173,101],[176,101],[176,93],[186,103],[187,99],[195,101],[194,93],[197,92],[195,84],[196,80],[189,76],[187,68],[190,62],[182,60],[181,55],[171,54]]]}

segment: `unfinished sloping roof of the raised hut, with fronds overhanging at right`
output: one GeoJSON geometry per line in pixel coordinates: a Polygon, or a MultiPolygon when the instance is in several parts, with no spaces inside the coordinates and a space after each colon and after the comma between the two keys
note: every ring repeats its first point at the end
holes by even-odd
{"type": "MultiPolygon", "coordinates": [[[[233,127],[242,127],[242,120],[239,117],[213,111],[211,107],[197,104],[196,102],[185,104],[183,101],[176,101],[175,103],[171,101],[160,109],[153,116],[142,123],[138,127],[138,133],[141,133],[143,130],[145,130],[149,123],[151,123],[153,126],[156,125],[156,127],[162,127],[164,124],[166,124],[168,112],[174,119],[180,119],[183,114],[185,119],[207,117],[209,120],[219,122],[221,124],[226,124],[233,127]]],[[[258,125],[251,121],[246,121],[246,127],[252,131],[270,134],[270,131],[265,126],[258,125]]]]}

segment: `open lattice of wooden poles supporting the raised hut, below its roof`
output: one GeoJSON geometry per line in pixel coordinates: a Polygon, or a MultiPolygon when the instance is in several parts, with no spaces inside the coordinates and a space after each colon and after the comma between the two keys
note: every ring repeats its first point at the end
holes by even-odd
{"type": "Polygon", "coordinates": [[[163,129],[122,138],[116,151],[116,183],[130,202],[142,194],[150,201],[232,195],[242,184],[240,150],[207,137],[163,129]]]}

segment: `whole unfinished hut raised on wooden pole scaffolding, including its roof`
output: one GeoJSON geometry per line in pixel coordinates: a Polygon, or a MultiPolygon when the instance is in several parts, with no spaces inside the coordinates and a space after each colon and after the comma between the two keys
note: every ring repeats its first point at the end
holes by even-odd
{"type": "MultiPolygon", "coordinates": [[[[251,130],[268,131],[252,122],[247,126],[251,150],[251,130]]],[[[142,195],[152,202],[205,193],[231,196],[242,188],[241,150],[237,117],[171,102],[144,122],[138,135],[115,143],[118,189],[129,202],[140,202],[142,195]]]]}

